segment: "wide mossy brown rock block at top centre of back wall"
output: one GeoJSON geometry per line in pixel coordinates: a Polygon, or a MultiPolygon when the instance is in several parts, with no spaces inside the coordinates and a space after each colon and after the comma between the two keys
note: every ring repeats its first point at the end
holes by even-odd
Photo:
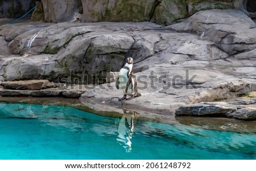
{"type": "Polygon", "coordinates": [[[85,1],[82,0],[84,22],[148,21],[154,1],[85,1]],[[92,15],[94,14],[94,15],[92,15]]]}

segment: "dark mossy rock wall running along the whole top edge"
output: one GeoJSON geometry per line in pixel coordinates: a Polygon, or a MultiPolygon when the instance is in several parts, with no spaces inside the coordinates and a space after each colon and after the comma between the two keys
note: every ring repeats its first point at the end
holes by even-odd
{"type": "MultiPolygon", "coordinates": [[[[46,22],[154,22],[172,24],[197,11],[207,9],[236,8],[255,12],[255,5],[250,0],[210,0],[210,1],[177,1],[177,0],[103,0],[103,1],[64,1],[42,0],[42,5],[35,10],[33,20],[44,19],[46,22]],[[41,16],[43,12],[43,17],[41,16]]],[[[0,18],[20,17],[35,6],[35,0],[30,1],[0,1],[0,18]]]]}

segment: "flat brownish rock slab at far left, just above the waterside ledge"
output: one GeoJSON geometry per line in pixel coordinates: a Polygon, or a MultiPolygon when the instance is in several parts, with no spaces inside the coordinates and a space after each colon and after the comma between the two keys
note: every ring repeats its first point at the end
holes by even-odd
{"type": "Polygon", "coordinates": [[[49,80],[25,80],[17,82],[3,82],[1,84],[7,89],[46,89],[57,87],[55,84],[50,83],[49,80]]]}

